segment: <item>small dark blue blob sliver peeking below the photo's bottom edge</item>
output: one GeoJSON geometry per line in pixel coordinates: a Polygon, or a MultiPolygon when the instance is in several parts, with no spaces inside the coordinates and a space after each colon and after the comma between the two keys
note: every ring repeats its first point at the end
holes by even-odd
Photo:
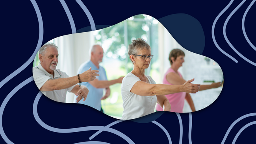
{"type": "Polygon", "coordinates": [[[163,113],[165,113],[165,111],[158,111],[156,113],[148,114],[148,115],[142,116],[140,118],[135,118],[132,121],[137,122],[137,123],[152,122],[152,121],[156,120],[157,118],[159,118],[163,113]]]}

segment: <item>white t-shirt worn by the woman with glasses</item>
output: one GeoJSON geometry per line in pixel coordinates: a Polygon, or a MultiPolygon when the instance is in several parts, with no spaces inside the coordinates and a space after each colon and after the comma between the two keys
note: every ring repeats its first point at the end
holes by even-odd
{"type": "MultiPolygon", "coordinates": [[[[147,76],[150,84],[156,84],[156,82],[147,76]]],[[[122,113],[122,120],[139,118],[147,114],[154,113],[154,108],[156,106],[156,95],[155,96],[139,96],[130,92],[134,84],[140,81],[140,79],[129,72],[121,84],[121,94],[123,100],[124,111],[122,113]]]]}

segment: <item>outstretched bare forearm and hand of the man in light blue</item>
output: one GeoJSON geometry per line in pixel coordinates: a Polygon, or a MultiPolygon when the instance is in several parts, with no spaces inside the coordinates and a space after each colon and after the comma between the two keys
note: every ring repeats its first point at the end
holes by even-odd
{"type": "Polygon", "coordinates": [[[89,81],[89,83],[95,87],[95,88],[107,88],[109,87],[110,85],[113,85],[113,84],[116,84],[116,83],[122,83],[122,79],[124,77],[120,77],[118,79],[113,79],[113,80],[106,80],[106,81],[100,81],[98,79],[95,79],[94,81],[89,81]]]}

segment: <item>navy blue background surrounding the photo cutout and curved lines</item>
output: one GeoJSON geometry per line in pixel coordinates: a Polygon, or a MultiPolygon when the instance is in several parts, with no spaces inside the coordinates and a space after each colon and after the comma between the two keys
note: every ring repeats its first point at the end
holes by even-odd
{"type": "MultiPolygon", "coordinates": [[[[61,3],[56,0],[37,0],[43,18],[43,42],[56,37],[71,34],[69,19],[61,3]]],[[[129,17],[138,14],[147,14],[160,21],[166,28],[173,21],[164,17],[174,14],[187,14],[200,23],[204,39],[198,44],[203,44],[204,48],[197,50],[196,47],[184,47],[192,52],[210,57],[222,68],[224,74],[224,86],[221,94],[210,106],[196,111],[192,114],[191,140],[195,144],[220,144],[230,125],[237,118],[250,113],[255,113],[255,86],[256,66],[248,63],[237,55],[227,44],[223,36],[223,24],[228,15],[239,5],[241,1],[236,0],[223,13],[215,26],[215,38],[219,46],[238,63],[221,53],[211,37],[213,21],[219,13],[226,7],[229,1],[172,1],[166,2],[158,0],[154,3],[145,1],[85,1],[83,4],[91,13],[96,25],[96,30],[112,26],[129,17]],[[202,42],[202,43],[200,43],[202,42]]],[[[250,47],[242,32],[242,17],[252,1],[246,1],[233,17],[230,18],[226,34],[228,40],[242,55],[256,63],[256,51],[250,47]]],[[[86,14],[76,1],[66,1],[70,13],[76,25],[77,32],[91,31],[91,25],[86,14]],[[84,29],[83,29],[84,28],[84,29]],[[80,31],[78,31],[80,30],[80,31]]],[[[256,4],[249,10],[245,18],[245,30],[247,36],[254,46],[256,46],[255,21],[256,4]]],[[[1,2],[1,76],[3,81],[7,76],[20,68],[30,57],[35,57],[33,52],[37,46],[39,37],[39,23],[35,9],[30,1],[4,1],[1,2]]],[[[167,28],[170,32],[175,28],[167,28]]],[[[171,32],[170,32],[171,33],[171,32]]],[[[171,33],[172,34],[172,33],[171,33]]],[[[195,37],[197,37],[195,33],[195,37]]],[[[186,45],[186,41],[180,40],[180,44],[186,45]]],[[[6,96],[17,85],[33,76],[32,65],[26,66],[24,70],[9,79],[0,87],[0,103],[4,102],[6,96]]],[[[2,131],[7,138],[17,143],[61,143],[70,144],[78,142],[100,141],[111,144],[126,144],[127,142],[120,136],[103,131],[92,140],[89,137],[96,131],[82,131],[74,133],[56,133],[40,126],[33,116],[33,102],[39,90],[35,82],[31,81],[18,90],[1,111],[2,131]]],[[[62,129],[86,126],[107,126],[116,121],[106,114],[100,113],[86,105],[73,103],[59,103],[42,96],[39,100],[37,111],[39,117],[45,124],[62,129]],[[81,115],[83,113],[83,115],[81,115]]],[[[183,124],[183,143],[189,143],[189,113],[181,113],[183,124]]],[[[168,143],[164,131],[150,121],[155,120],[167,129],[173,144],[179,142],[180,125],[178,117],[172,112],[157,112],[147,117],[149,122],[127,120],[111,128],[116,129],[128,136],[136,144],[141,143],[168,143]]],[[[232,143],[238,131],[246,124],[256,120],[256,116],[250,116],[239,121],[228,134],[225,143],[232,143]]],[[[142,120],[143,121],[143,120],[142,120]]],[[[256,126],[246,128],[237,138],[236,143],[255,142],[256,126]]],[[[2,135],[2,133],[1,133],[2,135]]],[[[0,143],[6,143],[0,138],[0,143]]]]}

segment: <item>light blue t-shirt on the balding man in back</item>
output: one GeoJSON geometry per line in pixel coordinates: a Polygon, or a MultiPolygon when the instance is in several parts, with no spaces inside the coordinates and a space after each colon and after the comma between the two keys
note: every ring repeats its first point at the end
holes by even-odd
{"type": "MultiPolygon", "coordinates": [[[[98,79],[99,81],[108,80],[105,69],[102,66],[99,66],[99,68],[97,68],[91,60],[86,61],[82,65],[80,65],[80,67],[78,68],[78,74],[82,74],[86,70],[89,70],[90,67],[91,67],[91,70],[99,71],[98,74],[100,74],[100,76],[96,76],[96,79],[98,79]]],[[[97,109],[98,111],[100,111],[101,110],[100,98],[102,98],[102,96],[103,96],[104,88],[96,89],[88,82],[82,82],[81,85],[86,86],[89,90],[89,93],[84,102],[82,99],[78,103],[88,105],[88,106],[93,107],[93,108],[97,109]]],[[[74,101],[73,101],[74,103],[76,103],[77,97],[78,96],[76,96],[76,95],[74,96],[74,101]]]]}

